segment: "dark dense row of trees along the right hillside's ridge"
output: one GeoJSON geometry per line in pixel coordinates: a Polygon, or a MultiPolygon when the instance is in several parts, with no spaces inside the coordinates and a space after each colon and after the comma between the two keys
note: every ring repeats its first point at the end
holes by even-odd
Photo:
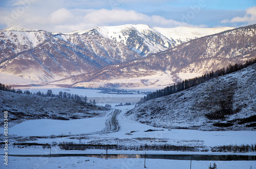
{"type": "Polygon", "coordinates": [[[209,79],[218,77],[218,76],[222,76],[225,74],[229,74],[232,72],[236,72],[240,69],[243,69],[249,65],[252,65],[256,63],[256,58],[246,61],[245,64],[235,64],[235,65],[229,65],[226,69],[222,68],[219,69],[217,71],[211,71],[210,73],[204,74],[200,77],[195,77],[195,78],[191,78],[191,79],[186,79],[183,80],[181,82],[178,82],[177,84],[174,84],[172,86],[168,86],[164,89],[161,90],[157,90],[156,92],[153,92],[151,94],[148,94],[146,96],[144,96],[144,98],[141,98],[140,101],[138,102],[139,104],[144,103],[145,101],[151,100],[151,99],[155,99],[158,97],[162,97],[162,96],[167,96],[176,92],[180,92],[182,90],[194,87],[196,85],[199,85],[202,82],[205,82],[209,79]]]}

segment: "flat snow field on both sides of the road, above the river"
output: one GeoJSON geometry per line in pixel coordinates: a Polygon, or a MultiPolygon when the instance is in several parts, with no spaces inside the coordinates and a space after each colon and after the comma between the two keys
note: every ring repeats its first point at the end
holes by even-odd
{"type": "MultiPolygon", "coordinates": [[[[115,104],[112,104],[114,107],[115,104]]],[[[142,144],[170,144],[175,146],[221,146],[221,145],[242,145],[255,144],[256,131],[198,131],[186,129],[165,129],[152,127],[128,119],[124,116],[125,112],[134,105],[118,106],[121,113],[117,116],[120,129],[118,132],[105,134],[91,134],[84,138],[79,138],[82,143],[98,144],[122,144],[135,145],[142,144]],[[145,132],[146,130],[155,130],[145,132]]],[[[105,127],[105,121],[109,114],[102,118],[89,118],[80,120],[29,120],[9,128],[9,133],[15,136],[50,136],[68,134],[70,137],[57,137],[52,139],[38,138],[29,141],[32,143],[49,143],[52,142],[74,142],[79,143],[78,136],[74,134],[87,134],[101,131],[105,127]]],[[[4,128],[1,130],[3,131],[4,128]]]]}

